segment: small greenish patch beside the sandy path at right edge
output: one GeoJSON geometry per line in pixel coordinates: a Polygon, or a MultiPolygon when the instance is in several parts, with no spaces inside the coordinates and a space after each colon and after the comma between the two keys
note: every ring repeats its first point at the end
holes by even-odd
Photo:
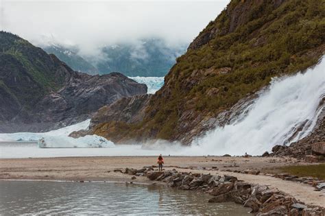
{"type": "Polygon", "coordinates": [[[320,180],[325,180],[325,163],[319,165],[296,165],[280,167],[280,171],[289,173],[293,176],[306,177],[311,176],[320,180]]]}

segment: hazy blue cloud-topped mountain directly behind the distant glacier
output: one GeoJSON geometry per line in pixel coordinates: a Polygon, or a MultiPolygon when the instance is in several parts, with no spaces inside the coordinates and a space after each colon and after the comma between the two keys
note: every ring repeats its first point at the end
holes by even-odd
{"type": "Polygon", "coordinates": [[[132,77],[163,77],[185,50],[184,45],[171,47],[161,39],[143,39],[104,47],[104,60],[95,65],[101,74],[120,71],[132,77]]]}

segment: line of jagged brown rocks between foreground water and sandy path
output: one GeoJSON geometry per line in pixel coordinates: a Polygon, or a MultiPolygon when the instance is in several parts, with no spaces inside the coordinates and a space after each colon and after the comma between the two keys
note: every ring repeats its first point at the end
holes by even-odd
{"type": "Polygon", "coordinates": [[[210,173],[179,172],[176,169],[155,171],[126,168],[124,173],[147,176],[149,180],[167,183],[168,187],[182,190],[204,191],[213,197],[208,202],[235,202],[252,208],[256,215],[325,215],[325,208],[307,206],[278,189],[249,184],[234,176],[213,176],[210,173]]]}

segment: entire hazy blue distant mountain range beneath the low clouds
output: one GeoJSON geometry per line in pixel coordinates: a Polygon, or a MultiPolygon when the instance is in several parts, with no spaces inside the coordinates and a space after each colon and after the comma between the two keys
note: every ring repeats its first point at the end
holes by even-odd
{"type": "Polygon", "coordinates": [[[91,75],[119,71],[131,77],[163,77],[176,58],[186,51],[186,46],[167,45],[163,39],[150,38],[101,47],[100,56],[80,56],[77,46],[51,44],[43,49],[55,54],[73,70],[91,75]]]}

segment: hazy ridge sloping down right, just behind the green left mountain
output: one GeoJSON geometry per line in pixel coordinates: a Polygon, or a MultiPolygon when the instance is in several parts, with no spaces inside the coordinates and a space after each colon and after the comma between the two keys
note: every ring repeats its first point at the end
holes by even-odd
{"type": "Polygon", "coordinates": [[[90,75],[99,73],[96,67],[77,54],[77,47],[64,47],[62,45],[52,44],[43,47],[43,49],[49,54],[56,55],[58,59],[68,64],[74,71],[80,71],[90,75]]]}

